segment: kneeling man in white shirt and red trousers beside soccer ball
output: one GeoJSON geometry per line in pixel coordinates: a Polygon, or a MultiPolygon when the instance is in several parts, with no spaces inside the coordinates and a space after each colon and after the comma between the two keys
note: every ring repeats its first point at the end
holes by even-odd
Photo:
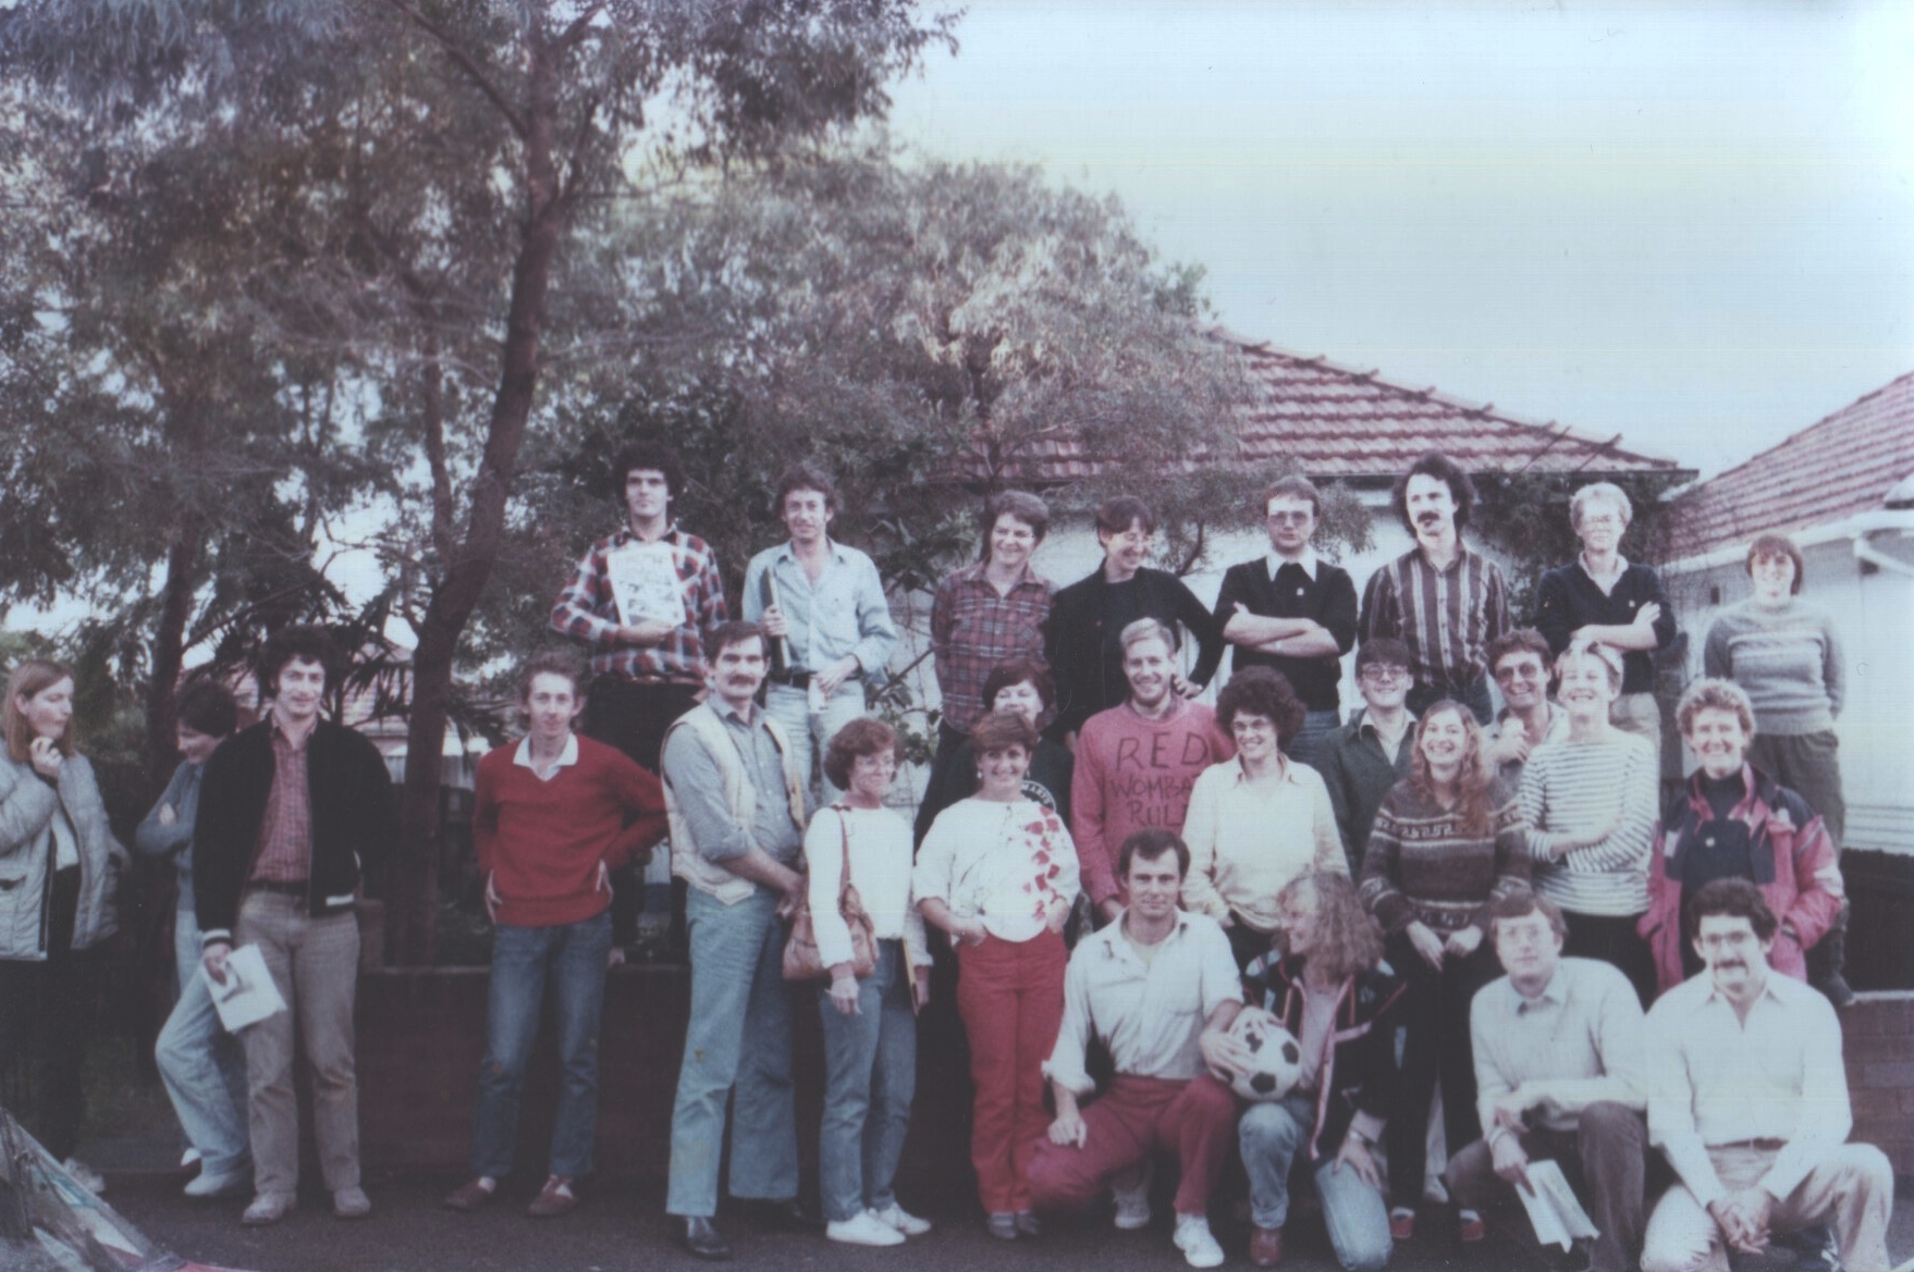
{"type": "Polygon", "coordinates": [[[1116,865],[1129,909],[1070,956],[1064,1021],[1043,1065],[1057,1121],[1030,1161],[1030,1195],[1039,1207],[1074,1207],[1112,1186],[1116,1226],[1143,1228],[1150,1151],[1166,1148],[1183,1167],[1177,1249],[1192,1268],[1213,1268],[1223,1247],[1210,1234],[1210,1188],[1229,1153],[1236,1096],[1206,1069],[1238,1067],[1242,1044],[1225,1031],[1242,1010],[1242,983],[1217,922],[1177,909],[1191,865],[1183,840],[1137,830],[1116,865]],[[1093,1029],[1116,1077],[1079,1109],[1095,1090],[1083,1069],[1093,1029]]]}

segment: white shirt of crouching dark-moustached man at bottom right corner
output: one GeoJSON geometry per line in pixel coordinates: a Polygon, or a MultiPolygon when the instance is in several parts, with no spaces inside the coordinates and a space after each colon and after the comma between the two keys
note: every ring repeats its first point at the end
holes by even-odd
{"type": "Polygon", "coordinates": [[[1709,1148],[1782,1140],[1761,1186],[1786,1197],[1855,1119],[1841,1021],[1814,989],[1769,970],[1744,1023],[1703,970],[1648,1012],[1648,1138],[1702,1205],[1725,1188],[1709,1148]]]}

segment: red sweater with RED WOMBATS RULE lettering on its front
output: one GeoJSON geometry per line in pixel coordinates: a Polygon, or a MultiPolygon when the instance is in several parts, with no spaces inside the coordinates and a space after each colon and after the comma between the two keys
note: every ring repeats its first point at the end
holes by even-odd
{"type": "Polygon", "coordinates": [[[1116,897],[1129,905],[1116,878],[1124,840],[1150,826],[1183,834],[1191,786],[1235,754],[1215,712],[1200,702],[1179,698],[1164,719],[1145,719],[1124,702],[1083,721],[1070,779],[1070,834],[1091,901],[1116,897]]]}

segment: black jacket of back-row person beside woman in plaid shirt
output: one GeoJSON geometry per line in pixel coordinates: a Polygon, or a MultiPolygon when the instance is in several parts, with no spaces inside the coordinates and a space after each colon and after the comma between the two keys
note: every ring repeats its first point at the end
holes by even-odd
{"type": "MultiPolygon", "coordinates": [[[[1191,679],[1208,685],[1223,662],[1223,629],[1175,574],[1166,570],[1137,570],[1137,614],[1171,627],[1183,625],[1185,637],[1196,639],[1196,668],[1191,679]]],[[[1120,654],[1104,652],[1104,620],[1110,583],[1102,566],[1089,578],[1070,583],[1051,601],[1043,620],[1043,658],[1057,679],[1057,721],[1047,735],[1062,738],[1076,733],[1097,712],[1106,712],[1129,698],[1120,654]]]]}

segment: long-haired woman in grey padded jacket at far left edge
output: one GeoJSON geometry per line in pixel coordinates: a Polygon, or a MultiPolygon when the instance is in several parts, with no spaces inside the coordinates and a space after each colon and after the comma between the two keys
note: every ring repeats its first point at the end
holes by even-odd
{"type": "Polygon", "coordinates": [[[94,767],[73,746],[73,668],[23,660],[0,712],[0,1104],[25,1113],[67,1174],[100,1192],[105,1182],[73,1150],[128,857],[107,824],[94,767]],[[31,1081],[19,1090],[25,1060],[31,1081]]]}

